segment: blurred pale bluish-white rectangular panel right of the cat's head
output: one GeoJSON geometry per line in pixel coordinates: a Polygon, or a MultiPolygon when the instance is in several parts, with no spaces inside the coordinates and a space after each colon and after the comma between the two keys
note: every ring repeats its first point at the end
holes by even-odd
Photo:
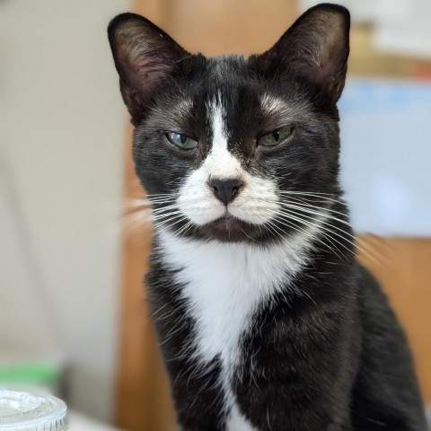
{"type": "Polygon", "coordinates": [[[348,79],[339,110],[356,232],[431,237],[431,84],[348,79]]]}

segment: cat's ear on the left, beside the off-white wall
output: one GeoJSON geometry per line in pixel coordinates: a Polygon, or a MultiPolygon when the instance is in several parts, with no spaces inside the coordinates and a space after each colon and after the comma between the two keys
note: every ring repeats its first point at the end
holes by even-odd
{"type": "Polygon", "coordinates": [[[121,13],[108,27],[123,100],[136,126],[156,92],[189,53],[153,22],[121,13]]]}

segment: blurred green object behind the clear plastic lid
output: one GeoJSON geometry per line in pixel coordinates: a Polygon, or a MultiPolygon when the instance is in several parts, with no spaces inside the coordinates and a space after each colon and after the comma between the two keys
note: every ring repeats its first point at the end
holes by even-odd
{"type": "Polygon", "coordinates": [[[56,365],[20,364],[0,365],[0,383],[53,384],[60,380],[60,370],[56,365]]]}

